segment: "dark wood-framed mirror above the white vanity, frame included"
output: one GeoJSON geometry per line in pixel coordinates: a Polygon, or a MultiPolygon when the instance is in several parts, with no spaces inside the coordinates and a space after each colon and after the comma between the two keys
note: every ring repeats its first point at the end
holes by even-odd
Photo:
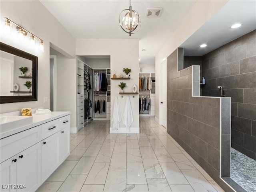
{"type": "Polygon", "coordinates": [[[2,42],[0,50],[0,103],[36,101],[38,57],[2,42]]]}

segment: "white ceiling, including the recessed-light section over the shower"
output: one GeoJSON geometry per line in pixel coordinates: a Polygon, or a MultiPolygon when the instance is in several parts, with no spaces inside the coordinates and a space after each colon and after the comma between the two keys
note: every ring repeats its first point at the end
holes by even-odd
{"type": "MultiPolygon", "coordinates": [[[[77,39],[139,39],[140,63],[154,64],[155,56],[196,1],[132,0],[140,14],[141,28],[131,37],[118,23],[128,0],[41,0],[52,15],[77,39]],[[160,18],[146,18],[146,9],[162,7],[160,18]],[[142,51],[146,49],[146,51],[142,51]]],[[[256,1],[232,0],[203,25],[181,47],[187,55],[204,55],[237,37],[256,29],[256,1]],[[229,26],[241,22],[233,32],[229,26]],[[200,43],[206,49],[198,49],[200,43]]]]}

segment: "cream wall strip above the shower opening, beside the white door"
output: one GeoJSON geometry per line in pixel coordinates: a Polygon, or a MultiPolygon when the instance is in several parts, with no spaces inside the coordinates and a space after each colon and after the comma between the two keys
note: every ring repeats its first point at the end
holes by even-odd
{"type": "MultiPolygon", "coordinates": [[[[186,15],[184,20],[170,34],[170,38],[156,55],[156,119],[159,120],[159,86],[160,71],[159,65],[163,59],[168,57],[177,47],[179,47],[188,37],[190,37],[197,29],[199,29],[208,19],[210,19],[220,8],[222,8],[228,0],[220,1],[197,1],[186,15]]],[[[167,74],[168,75],[168,74],[167,74]]]]}

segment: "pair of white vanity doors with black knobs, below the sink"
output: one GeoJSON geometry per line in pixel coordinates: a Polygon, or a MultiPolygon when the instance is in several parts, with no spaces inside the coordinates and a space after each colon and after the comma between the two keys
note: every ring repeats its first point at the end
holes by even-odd
{"type": "Polygon", "coordinates": [[[0,166],[1,192],[35,191],[41,185],[40,143],[7,159],[0,166]]]}

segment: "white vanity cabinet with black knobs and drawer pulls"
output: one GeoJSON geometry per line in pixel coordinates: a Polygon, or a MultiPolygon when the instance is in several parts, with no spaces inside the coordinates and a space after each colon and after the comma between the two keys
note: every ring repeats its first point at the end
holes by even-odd
{"type": "Polygon", "coordinates": [[[33,124],[11,130],[8,136],[4,133],[6,137],[0,139],[1,192],[36,191],[63,163],[70,154],[69,114],[38,115],[33,124]]]}

